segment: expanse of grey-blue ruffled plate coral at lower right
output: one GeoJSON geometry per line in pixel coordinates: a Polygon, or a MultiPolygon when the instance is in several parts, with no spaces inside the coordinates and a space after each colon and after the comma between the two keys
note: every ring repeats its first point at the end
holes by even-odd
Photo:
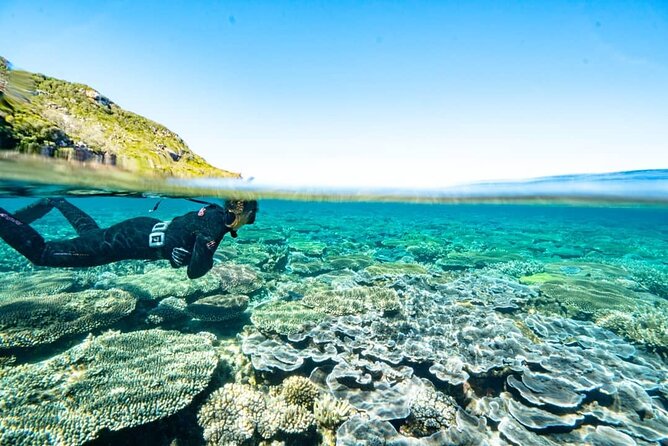
{"type": "Polygon", "coordinates": [[[595,431],[601,422],[636,441],[668,439],[668,413],[650,397],[668,372],[613,333],[556,316],[513,311],[510,318],[507,304],[495,298],[523,308],[536,293],[501,278],[468,274],[427,288],[420,281],[395,288],[403,308],[392,318],[331,316],[287,339],[248,330],[242,349],[264,372],[316,367],[312,379],[368,417],[339,428],[343,444],[373,436],[443,444],[455,433],[463,444],[491,443],[496,425],[514,444],[577,443],[604,436],[595,431]],[[418,377],[416,368],[428,374],[418,377]],[[631,410],[624,386],[648,403],[631,410]],[[648,422],[639,411],[650,414],[651,433],[641,427],[648,422]],[[390,420],[403,420],[399,431],[383,424],[390,420]]]}

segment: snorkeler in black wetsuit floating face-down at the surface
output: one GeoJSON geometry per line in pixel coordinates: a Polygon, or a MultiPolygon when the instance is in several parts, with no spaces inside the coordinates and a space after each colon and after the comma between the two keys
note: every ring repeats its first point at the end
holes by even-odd
{"type": "Polygon", "coordinates": [[[196,279],[213,266],[213,254],[223,236],[232,237],[255,222],[257,202],[228,200],[208,204],[171,221],[137,217],[100,228],[81,209],[62,198],[45,198],[13,214],[0,208],[0,237],[37,266],[82,267],[127,259],[168,259],[172,267],[188,267],[196,279]],[[58,209],[79,235],[45,241],[30,223],[58,209]]]}

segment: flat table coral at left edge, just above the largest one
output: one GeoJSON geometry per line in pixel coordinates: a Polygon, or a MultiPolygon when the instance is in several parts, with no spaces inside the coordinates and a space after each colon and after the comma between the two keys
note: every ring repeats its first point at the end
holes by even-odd
{"type": "Polygon", "coordinates": [[[0,349],[47,344],[109,326],[134,308],[135,298],[118,289],[3,299],[0,349]]]}

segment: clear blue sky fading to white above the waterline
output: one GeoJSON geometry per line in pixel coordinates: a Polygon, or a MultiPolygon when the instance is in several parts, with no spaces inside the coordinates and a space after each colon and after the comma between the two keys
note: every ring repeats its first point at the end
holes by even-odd
{"type": "Polygon", "coordinates": [[[212,164],[438,187],[668,168],[668,2],[0,2],[0,55],[212,164]]]}

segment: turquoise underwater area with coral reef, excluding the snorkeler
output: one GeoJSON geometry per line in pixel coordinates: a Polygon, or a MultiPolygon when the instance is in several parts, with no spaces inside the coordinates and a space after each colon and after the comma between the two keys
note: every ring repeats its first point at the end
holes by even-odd
{"type": "MultiPolygon", "coordinates": [[[[206,206],[64,198],[102,228],[206,206]]],[[[195,279],[0,241],[0,444],[666,444],[667,253],[665,204],[549,200],[260,199],[195,279]]]]}

